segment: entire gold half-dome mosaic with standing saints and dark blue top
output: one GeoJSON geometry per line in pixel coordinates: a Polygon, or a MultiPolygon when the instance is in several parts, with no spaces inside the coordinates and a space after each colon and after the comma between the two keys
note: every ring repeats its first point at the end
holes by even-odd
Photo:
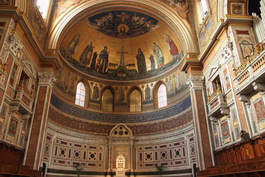
{"type": "Polygon", "coordinates": [[[127,10],[82,19],[65,35],[60,53],[77,70],[108,80],[157,76],[184,57],[180,40],[165,23],[127,10]]]}

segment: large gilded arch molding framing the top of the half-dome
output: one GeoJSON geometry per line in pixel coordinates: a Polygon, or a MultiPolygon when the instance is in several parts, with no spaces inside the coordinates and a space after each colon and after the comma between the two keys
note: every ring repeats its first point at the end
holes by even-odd
{"type": "Polygon", "coordinates": [[[48,37],[46,49],[58,49],[67,31],[71,29],[75,23],[78,23],[81,19],[86,18],[87,15],[95,11],[98,12],[102,9],[114,7],[122,8],[123,6],[124,8],[128,8],[128,6],[138,8],[139,10],[144,10],[154,16],[157,16],[175,31],[182,43],[185,53],[198,52],[196,40],[192,34],[190,25],[178,15],[176,10],[160,0],[80,1],[56,19],[48,37]],[[93,11],[91,7],[93,7],[93,11]]]}

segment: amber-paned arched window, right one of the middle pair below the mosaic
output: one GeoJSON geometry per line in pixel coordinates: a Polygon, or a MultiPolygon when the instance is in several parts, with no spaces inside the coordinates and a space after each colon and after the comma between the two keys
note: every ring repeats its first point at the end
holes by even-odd
{"type": "Polygon", "coordinates": [[[130,112],[141,111],[141,93],[134,89],[130,95],[130,112]]]}

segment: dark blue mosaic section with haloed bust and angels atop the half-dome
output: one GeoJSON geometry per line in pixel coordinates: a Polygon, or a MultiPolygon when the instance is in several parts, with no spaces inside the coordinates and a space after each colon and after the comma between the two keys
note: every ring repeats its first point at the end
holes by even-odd
{"type": "Polygon", "coordinates": [[[159,28],[158,20],[139,12],[116,10],[88,18],[88,27],[111,37],[136,37],[159,28]]]}

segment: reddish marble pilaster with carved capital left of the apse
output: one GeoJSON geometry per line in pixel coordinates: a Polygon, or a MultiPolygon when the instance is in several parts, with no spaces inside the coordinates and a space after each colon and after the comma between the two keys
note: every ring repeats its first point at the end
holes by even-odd
{"type": "Polygon", "coordinates": [[[42,150],[45,144],[45,128],[48,118],[49,106],[53,85],[55,84],[53,72],[38,73],[38,89],[29,130],[29,139],[25,151],[23,164],[38,170],[42,161],[42,150]]]}

